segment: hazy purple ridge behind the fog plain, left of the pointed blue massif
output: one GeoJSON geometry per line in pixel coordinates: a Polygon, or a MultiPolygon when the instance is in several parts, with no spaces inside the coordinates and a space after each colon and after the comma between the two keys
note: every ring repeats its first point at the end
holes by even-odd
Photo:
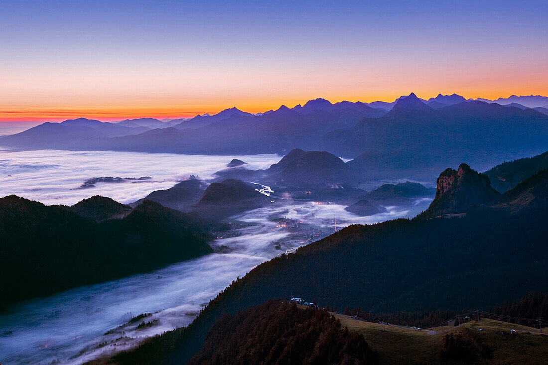
{"type": "MultiPolygon", "coordinates": [[[[208,155],[285,154],[295,147],[314,149],[313,147],[320,144],[319,141],[327,132],[337,128],[351,128],[363,117],[379,117],[385,114],[384,111],[372,109],[360,102],[336,103],[328,111],[317,109],[312,102],[306,110],[306,113],[302,113],[282,106],[276,111],[255,116],[230,109],[215,116],[198,116],[175,127],[113,138],[108,138],[104,134],[83,134],[67,136],[66,140],[52,139],[48,143],[48,136],[42,135],[44,143],[40,147],[208,155]]],[[[2,138],[0,144],[33,148],[28,141],[16,138],[2,138]]]]}

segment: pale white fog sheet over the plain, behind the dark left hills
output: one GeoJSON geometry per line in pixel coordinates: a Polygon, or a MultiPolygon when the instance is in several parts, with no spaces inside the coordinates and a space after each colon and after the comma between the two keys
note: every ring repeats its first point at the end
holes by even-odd
{"type": "Polygon", "coordinates": [[[251,169],[266,169],[279,161],[277,155],[203,156],[174,153],[113,151],[6,151],[0,150],[0,197],[15,194],[44,204],[72,205],[93,195],[131,203],[150,192],[168,189],[178,181],[197,175],[211,179],[232,158],[251,169]],[[98,183],[79,189],[85,180],[112,176],[151,179],[123,183],[98,183]]]}

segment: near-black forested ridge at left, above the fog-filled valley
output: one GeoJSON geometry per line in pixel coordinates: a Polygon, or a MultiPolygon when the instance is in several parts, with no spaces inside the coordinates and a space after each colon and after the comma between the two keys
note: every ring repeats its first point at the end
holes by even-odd
{"type": "Polygon", "coordinates": [[[1,198],[0,305],[212,252],[201,221],[156,202],[142,202],[123,219],[90,218],[14,195],[1,198]]]}

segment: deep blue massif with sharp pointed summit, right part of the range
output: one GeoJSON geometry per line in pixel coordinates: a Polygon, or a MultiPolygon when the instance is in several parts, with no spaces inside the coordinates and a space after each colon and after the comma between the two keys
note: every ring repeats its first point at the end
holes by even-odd
{"type": "Polygon", "coordinates": [[[358,156],[349,166],[372,178],[383,171],[384,177],[431,176],[458,161],[481,168],[548,149],[548,118],[534,110],[481,101],[433,110],[416,98],[405,100],[384,117],[328,133],[323,147],[358,156]]]}

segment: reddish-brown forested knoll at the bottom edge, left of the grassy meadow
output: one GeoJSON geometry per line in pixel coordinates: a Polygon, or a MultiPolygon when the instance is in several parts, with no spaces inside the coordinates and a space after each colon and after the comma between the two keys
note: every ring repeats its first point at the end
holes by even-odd
{"type": "Polygon", "coordinates": [[[219,318],[189,365],[358,365],[377,361],[363,335],[341,330],[340,321],[328,312],[269,300],[219,318]]]}

